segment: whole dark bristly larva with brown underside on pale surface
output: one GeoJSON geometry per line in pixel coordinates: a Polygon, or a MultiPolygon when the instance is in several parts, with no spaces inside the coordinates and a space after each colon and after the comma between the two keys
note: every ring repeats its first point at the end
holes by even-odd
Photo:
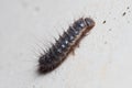
{"type": "Polygon", "coordinates": [[[95,22],[90,18],[80,18],[75,21],[73,25],[56,40],[56,43],[53,44],[44,55],[40,56],[38,72],[46,74],[59,66],[94,26],[95,22]]]}

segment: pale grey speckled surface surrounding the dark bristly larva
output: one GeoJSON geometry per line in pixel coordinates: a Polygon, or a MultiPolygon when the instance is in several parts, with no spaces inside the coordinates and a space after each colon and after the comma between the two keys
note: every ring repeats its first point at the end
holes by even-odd
{"type": "Polygon", "coordinates": [[[0,0],[0,88],[132,88],[131,11],[132,0],[0,0]],[[38,76],[41,48],[81,16],[96,21],[94,30],[38,76]]]}

